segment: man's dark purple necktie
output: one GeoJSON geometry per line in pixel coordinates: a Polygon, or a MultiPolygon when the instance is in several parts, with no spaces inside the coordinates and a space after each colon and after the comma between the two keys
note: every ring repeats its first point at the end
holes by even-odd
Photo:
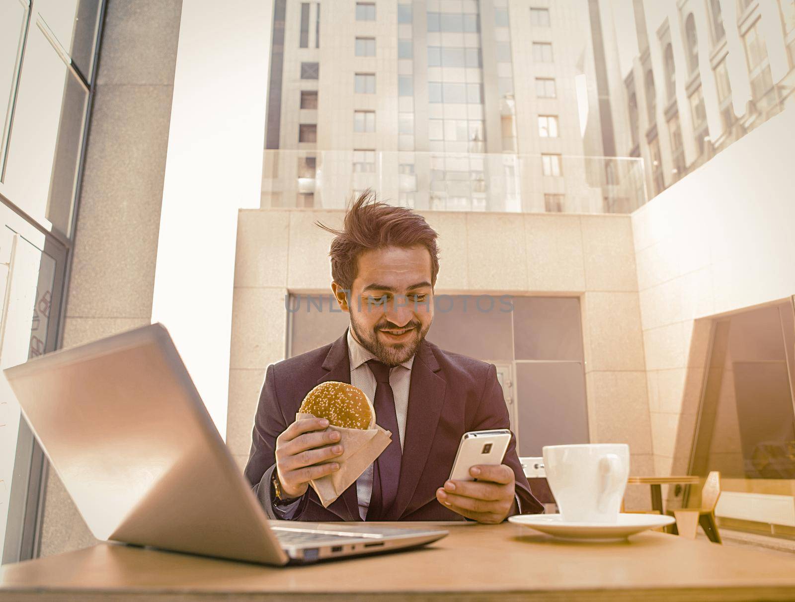
{"type": "Polygon", "coordinates": [[[390,367],[378,360],[368,360],[370,372],[375,376],[375,418],[378,425],[392,433],[392,441],[374,461],[373,492],[367,520],[383,520],[397,497],[397,481],[400,479],[401,447],[400,431],[397,430],[395,399],[390,385],[390,367]]]}

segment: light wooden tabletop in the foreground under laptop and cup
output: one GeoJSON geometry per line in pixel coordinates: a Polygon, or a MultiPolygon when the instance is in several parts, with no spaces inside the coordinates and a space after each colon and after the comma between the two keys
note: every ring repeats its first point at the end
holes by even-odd
{"type": "Polygon", "coordinates": [[[287,568],[101,543],[0,567],[0,600],[795,599],[795,556],[654,532],[576,543],[511,523],[446,528],[422,550],[287,568]]]}

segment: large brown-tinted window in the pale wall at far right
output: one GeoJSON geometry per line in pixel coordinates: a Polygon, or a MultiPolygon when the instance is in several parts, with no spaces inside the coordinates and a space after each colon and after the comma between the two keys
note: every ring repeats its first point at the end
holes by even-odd
{"type": "Polygon", "coordinates": [[[795,479],[793,353],[790,302],[715,324],[693,473],[795,479]]]}

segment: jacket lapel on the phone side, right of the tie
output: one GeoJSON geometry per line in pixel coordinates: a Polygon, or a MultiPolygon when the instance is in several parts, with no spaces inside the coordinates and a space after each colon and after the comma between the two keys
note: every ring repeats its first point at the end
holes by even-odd
{"type": "Polygon", "coordinates": [[[426,342],[417,349],[411,367],[409,384],[409,411],[405,420],[403,459],[401,461],[400,484],[397,499],[386,520],[397,520],[409,506],[417,483],[420,481],[425,463],[428,461],[444,406],[444,391],[447,383],[439,372],[429,345],[426,342]]]}

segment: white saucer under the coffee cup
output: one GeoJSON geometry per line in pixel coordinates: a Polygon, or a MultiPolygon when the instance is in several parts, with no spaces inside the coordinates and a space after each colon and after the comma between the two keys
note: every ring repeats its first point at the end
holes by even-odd
{"type": "Polygon", "coordinates": [[[558,538],[603,542],[626,539],[676,522],[673,516],[657,514],[619,514],[615,523],[567,523],[559,514],[522,514],[509,516],[508,520],[558,538]]]}

